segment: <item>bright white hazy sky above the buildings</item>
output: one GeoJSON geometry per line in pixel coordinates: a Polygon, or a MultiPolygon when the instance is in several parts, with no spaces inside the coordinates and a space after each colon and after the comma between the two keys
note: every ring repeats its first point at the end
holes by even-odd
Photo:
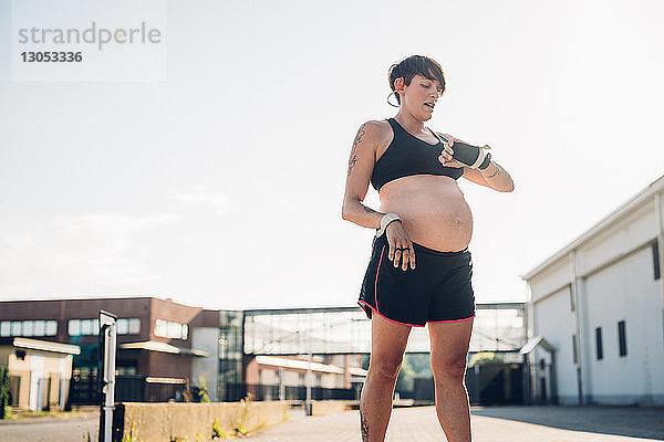
{"type": "Polygon", "coordinates": [[[425,54],[428,125],[516,183],[459,180],[476,299],[523,301],[519,275],[664,173],[663,4],[169,1],[165,81],[21,82],[1,2],[0,298],[354,305],[374,231],[341,219],[351,144],[425,54]]]}

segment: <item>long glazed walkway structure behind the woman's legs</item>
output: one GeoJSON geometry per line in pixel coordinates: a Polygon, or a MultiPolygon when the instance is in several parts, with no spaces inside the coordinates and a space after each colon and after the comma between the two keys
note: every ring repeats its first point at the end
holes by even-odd
{"type": "MultiPolygon", "coordinates": [[[[471,402],[522,403],[523,358],[519,350],[527,340],[526,303],[478,303],[476,312],[466,372],[471,402]]],[[[355,306],[245,311],[243,322],[249,392],[259,398],[301,397],[302,391],[295,385],[304,383],[307,355],[311,352],[310,385],[314,387],[314,399],[359,397],[366,376],[362,357],[371,352],[371,322],[362,309],[355,306]],[[345,390],[339,389],[342,386],[345,390]]],[[[428,358],[426,327],[413,327],[406,352],[425,354],[428,358]]],[[[400,379],[396,390],[401,398],[433,401],[433,375],[400,379]]],[[[227,386],[225,394],[241,397],[243,392],[231,387],[227,386]]]]}

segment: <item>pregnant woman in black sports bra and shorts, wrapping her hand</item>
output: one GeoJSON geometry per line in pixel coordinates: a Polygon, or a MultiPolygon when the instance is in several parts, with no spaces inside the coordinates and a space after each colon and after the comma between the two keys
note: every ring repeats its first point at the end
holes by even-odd
{"type": "Polygon", "coordinates": [[[344,220],[376,229],[359,301],[372,320],[362,440],[384,441],[411,327],[428,324],[436,414],[449,442],[470,442],[464,375],[475,317],[467,248],[473,214],[457,180],[500,192],[512,191],[513,182],[491,160],[489,146],[424,125],[445,91],[438,63],[413,55],[392,65],[388,78],[387,98],[395,95],[398,113],[357,130],[342,210],[344,220]],[[370,182],[378,191],[378,212],[362,203],[370,182]]]}

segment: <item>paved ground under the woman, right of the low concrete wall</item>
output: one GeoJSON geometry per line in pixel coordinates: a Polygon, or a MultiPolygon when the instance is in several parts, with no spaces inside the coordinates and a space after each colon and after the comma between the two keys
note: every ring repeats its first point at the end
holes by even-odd
{"type": "MultiPolygon", "coordinates": [[[[639,442],[664,440],[664,409],[606,407],[474,408],[475,442],[639,442]]],[[[357,411],[303,417],[249,438],[253,442],[360,441],[357,411]]],[[[446,441],[433,407],[395,409],[387,442],[446,441]]]]}

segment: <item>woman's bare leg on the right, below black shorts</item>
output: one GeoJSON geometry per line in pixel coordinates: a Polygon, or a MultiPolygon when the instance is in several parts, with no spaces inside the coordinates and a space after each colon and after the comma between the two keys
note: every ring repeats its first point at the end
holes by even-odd
{"type": "Polygon", "coordinates": [[[464,376],[473,319],[428,324],[436,414],[449,442],[470,442],[470,407],[464,376]]]}

